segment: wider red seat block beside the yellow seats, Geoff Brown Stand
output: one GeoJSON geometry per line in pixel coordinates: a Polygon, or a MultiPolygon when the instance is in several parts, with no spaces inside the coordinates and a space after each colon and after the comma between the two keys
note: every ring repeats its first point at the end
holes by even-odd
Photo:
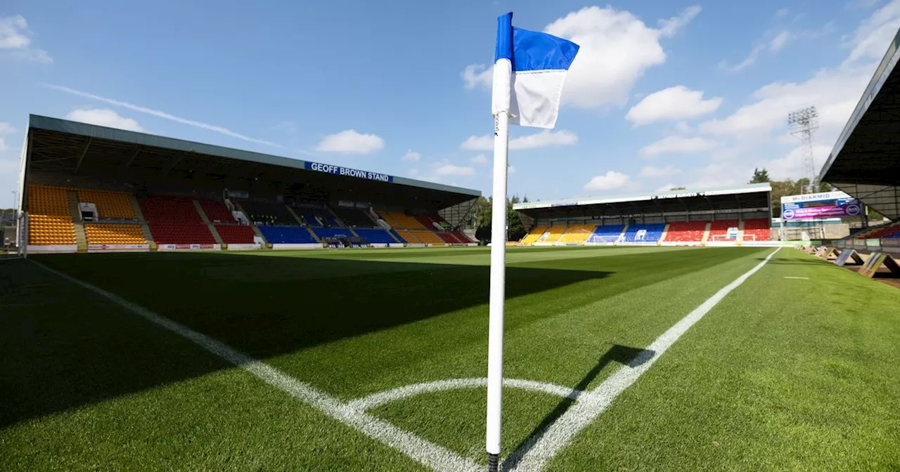
{"type": "Polygon", "coordinates": [[[215,237],[193,206],[193,199],[150,195],[140,201],[150,234],[161,245],[213,245],[215,237]]]}

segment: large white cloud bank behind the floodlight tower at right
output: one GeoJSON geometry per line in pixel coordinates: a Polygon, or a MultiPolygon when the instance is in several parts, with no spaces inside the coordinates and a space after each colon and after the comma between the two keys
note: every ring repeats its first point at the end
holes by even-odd
{"type": "Polygon", "coordinates": [[[801,177],[802,148],[788,136],[787,117],[789,111],[809,105],[815,105],[819,114],[813,155],[816,170],[821,168],[896,32],[893,26],[894,32],[886,38],[880,25],[896,24],[898,18],[900,0],[894,0],[860,22],[856,33],[845,39],[851,52],[840,66],[821,69],[803,82],[764,85],[752,94],[751,103],[723,119],[702,123],[701,132],[737,146],[725,148],[732,152],[730,158],[714,156],[707,166],[692,171],[697,180],[688,186],[745,183],[754,167],[765,167],[778,180],[801,177]]]}

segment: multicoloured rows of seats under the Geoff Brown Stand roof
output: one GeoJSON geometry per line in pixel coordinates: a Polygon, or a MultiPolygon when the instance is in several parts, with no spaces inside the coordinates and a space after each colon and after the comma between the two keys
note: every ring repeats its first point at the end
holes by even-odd
{"type": "MultiPolygon", "coordinates": [[[[93,203],[97,217],[105,219],[137,220],[131,202],[133,196],[124,191],[102,191],[95,189],[71,189],[48,185],[29,186],[29,208],[31,210],[30,244],[32,245],[74,245],[75,225],[72,221],[68,191],[76,191],[78,200],[93,203]]],[[[74,204],[74,202],[73,202],[74,204]]],[[[250,244],[256,236],[253,227],[241,226],[223,201],[193,199],[175,195],[149,195],[138,200],[143,218],[150,235],[157,244],[215,244],[216,237],[211,227],[202,218],[205,215],[215,232],[225,244],[250,244]],[[194,204],[199,204],[200,210],[194,204]]],[[[390,231],[377,227],[375,221],[364,209],[299,208],[294,212],[284,204],[241,200],[248,218],[259,226],[263,236],[274,244],[313,244],[320,238],[349,238],[358,236],[364,243],[393,244],[414,243],[430,245],[468,244],[471,241],[462,231],[446,231],[449,225],[443,218],[435,216],[412,217],[400,212],[384,212],[382,218],[391,221],[396,229],[390,231]],[[297,218],[294,217],[297,215],[297,218]],[[298,221],[298,218],[301,221],[298,221]],[[310,229],[301,226],[305,223],[310,229]],[[341,222],[354,229],[342,227],[341,222]],[[432,229],[433,228],[433,229],[432,229]],[[313,231],[314,235],[311,234],[313,231]],[[356,235],[354,234],[356,232],[356,235]],[[402,235],[401,235],[402,233],[402,235]]],[[[148,244],[143,229],[139,225],[114,223],[86,223],[85,236],[88,244],[103,245],[143,245],[148,244]]]]}

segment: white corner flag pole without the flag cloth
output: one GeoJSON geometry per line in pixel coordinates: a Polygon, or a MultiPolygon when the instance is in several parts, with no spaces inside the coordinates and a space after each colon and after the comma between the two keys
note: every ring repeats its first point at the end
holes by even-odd
{"type": "Polygon", "coordinates": [[[509,94],[512,64],[494,64],[494,185],[491,206],[491,298],[488,333],[488,428],[485,446],[488,470],[500,461],[500,420],[503,405],[503,305],[506,297],[507,172],[509,163],[509,94]],[[499,105],[499,106],[498,106],[499,105]]]}

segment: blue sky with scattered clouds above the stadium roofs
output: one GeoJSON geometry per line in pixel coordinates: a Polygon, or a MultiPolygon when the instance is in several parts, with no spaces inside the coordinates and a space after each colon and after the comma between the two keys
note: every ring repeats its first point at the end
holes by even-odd
{"type": "Polygon", "coordinates": [[[512,129],[509,192],[541,200],[797,178],[788,111],[818,107],[821,165],[900,27],[900,0],[7,0],[0,207],[28,113],[490,194],[510,10],[581,44],[556,129],[512,129]]]}

